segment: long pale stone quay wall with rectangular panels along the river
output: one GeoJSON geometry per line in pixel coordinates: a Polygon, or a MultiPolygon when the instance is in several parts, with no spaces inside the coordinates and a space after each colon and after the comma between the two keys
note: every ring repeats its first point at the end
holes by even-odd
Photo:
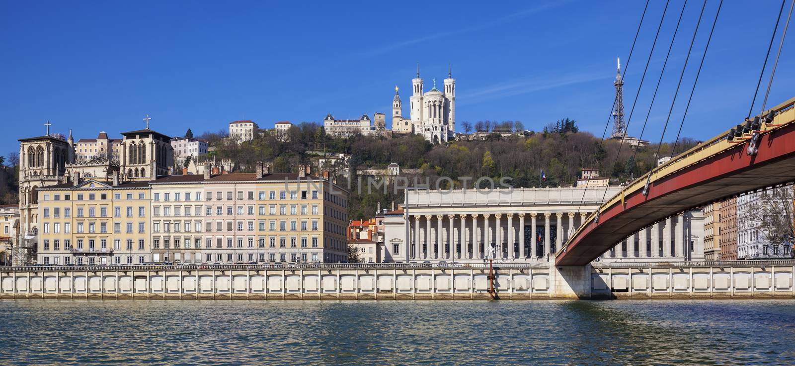
{"type": "MultiPolygon", "coordinates": [[[[549,267],[500,264],[499,299],[795,298],[792,263],[588,266],[566,294],[549,267]],[[590,278],[588,278],[590,272],[590,278]],[[550,277],[552,276],[552,277],[550,277]]],[[[0,268],[0,298],[488,299],[490,269],[467,264],[0,268]]]]}

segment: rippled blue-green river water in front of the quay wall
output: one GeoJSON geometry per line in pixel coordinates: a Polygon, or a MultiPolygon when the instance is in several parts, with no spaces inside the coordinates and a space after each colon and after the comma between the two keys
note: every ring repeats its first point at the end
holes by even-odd
{"type": "Polygon", "coordinates": [[[795,364],[795,301],[0,301],[0,364],[795,364]]]}

